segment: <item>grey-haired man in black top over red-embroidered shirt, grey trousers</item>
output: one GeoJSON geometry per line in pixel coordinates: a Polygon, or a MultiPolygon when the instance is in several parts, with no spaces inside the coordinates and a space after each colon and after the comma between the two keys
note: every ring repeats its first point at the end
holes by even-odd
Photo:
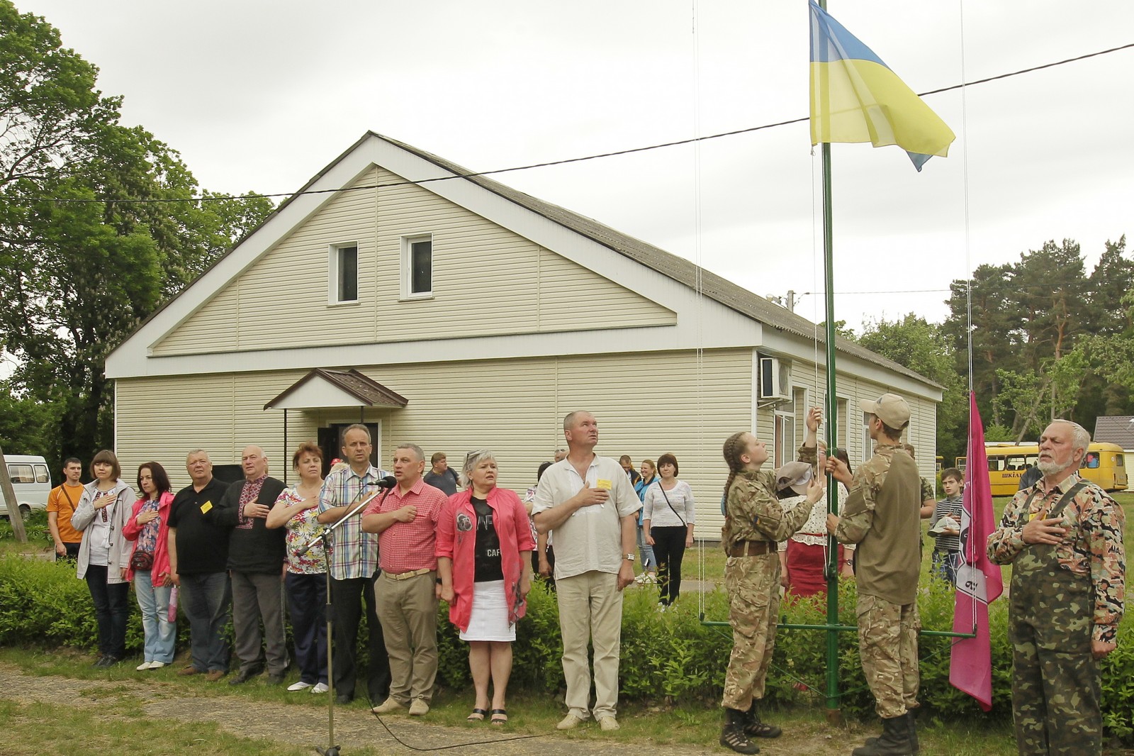
{"type": "Polygon", "coordinates": [[[284,481],[268,476],[268,456],[259,446],[244,447],[240,465],[244,482],[229,486],[210,513],[217,524],[231,528],[228,570],[232,579],[232,631],[240,671],[228,682],[238,686],[263,671],[265,654],[260,647],[260,620],[263,620],[268,680],[279,684],[287,672],[281,608],[286,532],[284,528],[269,530],[265,523],[284,492],[284,481]]]}

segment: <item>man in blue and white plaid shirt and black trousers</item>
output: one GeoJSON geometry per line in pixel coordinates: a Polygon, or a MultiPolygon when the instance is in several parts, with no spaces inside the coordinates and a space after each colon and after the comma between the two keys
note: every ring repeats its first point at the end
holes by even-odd
{"type": "MultiPolygon", "coordinates": [[[[348,468],[332,472],[319,494],[319,521],[338,522],[362,498],[378,490],[386,477],[370,463],[370,429],[355,423],[342,434],[342,457],[348,468]]],[[[390,660],[386,654],[382,624],[378,621],[374,582],[378,579],[378,537],[363,532],[362,516],[355,514],[331,536],[331,610],[335,619],[335,669],[332,681],[338,703],[349,704],[355,691],[355,657],[362,604],[366,603],[370,630],[366,692],[371,700],[386,700],[390,692],[390,660]]]]}

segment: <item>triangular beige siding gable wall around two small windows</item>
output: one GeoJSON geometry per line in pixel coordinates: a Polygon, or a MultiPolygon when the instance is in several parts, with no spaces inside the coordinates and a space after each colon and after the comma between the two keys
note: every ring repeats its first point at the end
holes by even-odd
{"type": "MultiPolygon", "coordinates": [[[[398,184],[372,169],[356,186],[398,184]]],[[[612,253],[613,254],[613,253],[612,253]]],[[[413,184],[339,194],[185,320],[155,354],[672,325],[676,313],[413,184]],[[433,296],[401,299],[401,240],[431,234],[433,296]],[[329,250],[358,245],[330,304],[329,250]],[[578,292],[601,308],[579,312],[578,292]],[[297,328],[297,324],[304,324],[297,328]]]]}

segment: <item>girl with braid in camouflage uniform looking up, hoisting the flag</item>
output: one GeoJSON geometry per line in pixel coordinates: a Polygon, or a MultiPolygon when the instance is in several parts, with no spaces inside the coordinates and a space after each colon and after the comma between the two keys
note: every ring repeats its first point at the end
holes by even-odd
{"type": "Polygon", "coordinates": [[[756,702],[764,696],[764,679],[776,644],[779,615],[780,563],[777,541],[797,531],[823,497],[822,478],[807,485],[806,501],[785,512],[776,497],[776,473],[762,471],[768,450],[750,432],[733,434],[725,442],[728,482],[725,484],[725,528],[721,545],[728,554],[725,588],[729,597],[733,654],[725,673],[725,726],[720,744],[739,754],[760,748],[748,738],[775,738],[778,726],[760,720],[756,702]]]}

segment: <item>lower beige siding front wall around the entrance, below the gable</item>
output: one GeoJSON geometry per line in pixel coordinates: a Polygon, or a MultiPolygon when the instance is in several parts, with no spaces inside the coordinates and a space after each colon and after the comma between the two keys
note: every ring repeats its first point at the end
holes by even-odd
{"type": "MultiPolygon", "coordinates": [[[[751,352],[711,351],[700,364],[693,353],[549,358],[435,366],[361,368],[409,398],[405,409],[367,411],[381,422],[382,460],[404,440],[426,455],[443,451],[459,468],[466,452],[489,447],[501,467],[501,485],[523,493],[536,468],[562,446],[562,418],[589,409],[599,419],[599,453],[629,454],[636,464],[675,454],[680,477],[697,496],[697,536],[720,534],[720,445],[748,427],[751,352]]],[[[290,454],[282,450],[282,411],[265,402],[304,371],[132,378],[118,381],[118,454],[133,474],[141,462],[166,465],[175,486],[187,485],[185,454],[208,448],[214,463],[239,461],[255,443],[282,477],[290,454]],[[160,420],[158,420],[160,419],[160,420]]],[[[315,438],[330,422],[352,422],[357,411],[288,412],[288,443],[315,438]]]]}

